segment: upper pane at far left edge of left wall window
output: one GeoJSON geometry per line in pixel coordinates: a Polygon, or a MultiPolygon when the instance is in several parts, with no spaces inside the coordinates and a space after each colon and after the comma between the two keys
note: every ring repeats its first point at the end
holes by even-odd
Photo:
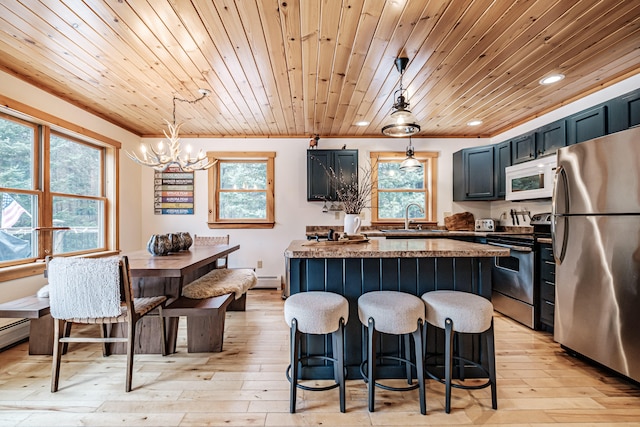
{"type": "Polygon", "coordinates": [[[33,190],[35,128],[0,118],[0,187],[33,190]]]}

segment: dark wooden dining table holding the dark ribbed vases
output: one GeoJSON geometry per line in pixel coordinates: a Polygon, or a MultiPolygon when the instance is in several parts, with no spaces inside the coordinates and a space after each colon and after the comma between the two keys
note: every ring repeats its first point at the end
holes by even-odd
{"type": "MultiPolygon", "coordinates": [[[[240,245],[198,245],[188,250],[170,252],[168,255],[152,255],[146,250],[123,253],[129,259],[131,285],[134,297],[165,295],[166,304],[182,294],[184,285],[207,274],[217,267],[217,260],[240,249],[240,245]]],[[[179,318],[165,318],[167,352],[174,353],[178,335],[179,318]]],[[[112,334],[126,334],[114,328],[112,334]]],[[[136,327],[136,353],[161,353],[162,334],[159,317],[145,316],[136,327]]],[[[121,343],[112,344],[113,353],[126,353],[121,343]]]]}

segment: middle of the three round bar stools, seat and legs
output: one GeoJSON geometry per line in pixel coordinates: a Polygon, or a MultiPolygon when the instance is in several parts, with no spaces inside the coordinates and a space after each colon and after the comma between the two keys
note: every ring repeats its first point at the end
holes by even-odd
{"type": "Polygon", "coordinates": [[[367,358],[360,365],[360,372],[369,389],[369,412],[375,410],[375,388],[380,387],[390,391],[407,391],[419,389],[420,413],[427,413],[424,391],[424,362],[422,349],[422,328],[424,324],[424,303],[415,295],[397,291],[373,291],[358,298],[358,317],[367,327],[367,358]],[[376,356],[376,340],[379,332],[393,335],[405,335],[405,357],[376,356]],[[409,356],[408,335],[413,336],[415,344],[416,362],[411,362],[409,356]],[[407,379],[411,383],[411,366],[415,366],[418,376],[417,384],[407,387],[391,387],[376,382],[376,363],[378,359],[392,359],[406,363],[407,379]],[[364,373],[364,365],[367,373],[364,373]]]}

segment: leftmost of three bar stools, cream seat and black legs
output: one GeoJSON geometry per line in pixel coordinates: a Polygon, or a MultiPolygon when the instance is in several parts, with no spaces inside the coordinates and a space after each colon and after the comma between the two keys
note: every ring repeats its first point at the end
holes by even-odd
{"type": "Polygon", "coordinates": [[[338,294],[310,291],[293,294],[284,303],[284,317],[290,328],[291,364],[287,367],[287,379],[291,383],[289,412],[296,412],[296,390],[310,391],[340,388],[340,412],[345,411],[344,373],[344,325],[349,319],[349,303],[338,294]],[[333,357],[300,355],[302,334],[331,334],[333,357]],[[333,362],[336,383],[324,387],[312,387],[298,383],[298,365],[306,359],[323,359],[333,362]]]}

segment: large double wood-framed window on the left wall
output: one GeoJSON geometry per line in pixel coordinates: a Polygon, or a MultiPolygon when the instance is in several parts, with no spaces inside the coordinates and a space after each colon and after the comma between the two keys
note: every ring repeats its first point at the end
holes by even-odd
{"type": "Polygon", "coordinates": [[[63,132],[0,113],[0,267],[115,246],[116,149],[63,132]]]}

